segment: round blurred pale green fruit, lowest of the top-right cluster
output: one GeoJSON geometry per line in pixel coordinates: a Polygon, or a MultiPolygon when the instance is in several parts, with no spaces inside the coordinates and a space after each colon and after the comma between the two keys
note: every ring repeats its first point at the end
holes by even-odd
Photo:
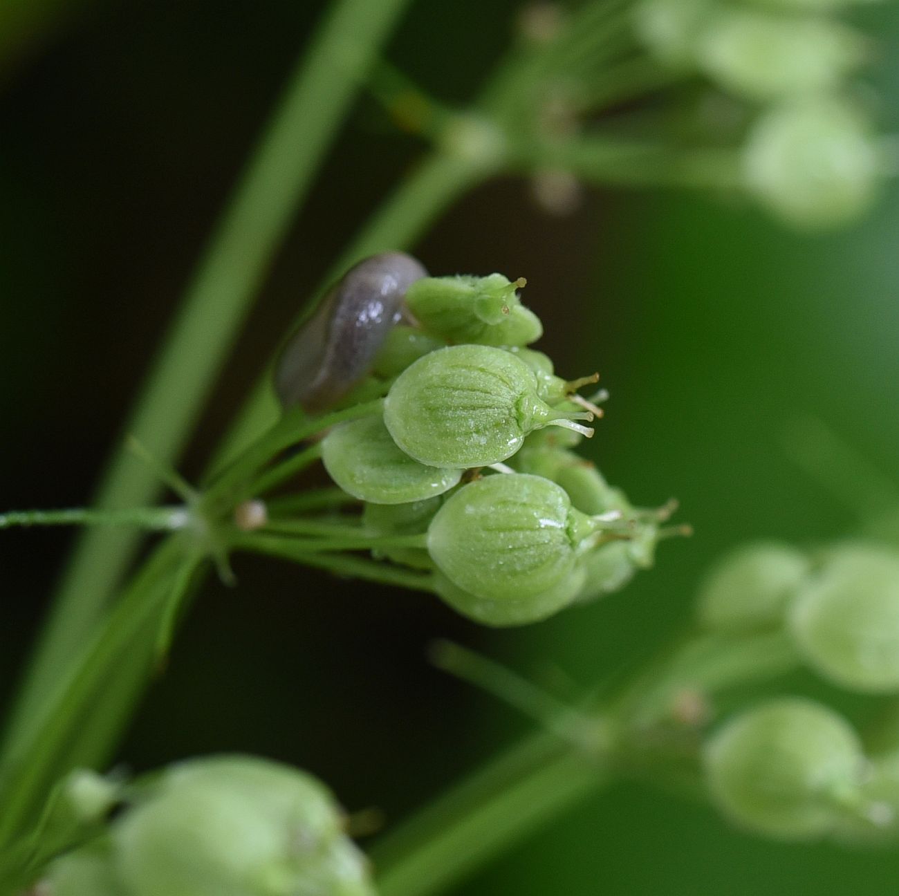
{"type": "Polygon", "coordinates": [[[867,123],[846,103],[807,98],[765,113],[743,150],[755,197],[785,221],[829,227],[859,217],[880,180],[867,123]]]}

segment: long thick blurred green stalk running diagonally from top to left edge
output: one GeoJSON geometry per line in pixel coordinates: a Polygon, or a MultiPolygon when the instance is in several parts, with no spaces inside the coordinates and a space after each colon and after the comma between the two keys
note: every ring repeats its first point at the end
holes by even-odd
{"type": "MultiPolygon", "coordinates": [[[[219,220],[125,432],[173,465],[325,149],[408,0],[338,0],[320,24],[219,220]]],[[[119,448],[95,497],[102,509],[156,500],[152,470],[119,448]]],[[[14,750],[53,680],[89,637],[138,546],[138,533],[91,530],[76,546],[6,734],[14,750]]]]}

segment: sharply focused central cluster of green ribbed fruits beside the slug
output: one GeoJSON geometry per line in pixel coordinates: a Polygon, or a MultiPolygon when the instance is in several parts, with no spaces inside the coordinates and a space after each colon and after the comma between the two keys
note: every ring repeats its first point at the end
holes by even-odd
{"type": "Polygon", "coordinates": [[[571,450],[600,413],[527,348],[543,332],[500,274],[426,277],[374,361],[383,413],[327,433],[322,459],[364,502],[378,556],[486,625],[521,625],[622,587],[652,563],[658,515],[571,450]],[[389,546],[422,536],[422,546],[389,546]]]}

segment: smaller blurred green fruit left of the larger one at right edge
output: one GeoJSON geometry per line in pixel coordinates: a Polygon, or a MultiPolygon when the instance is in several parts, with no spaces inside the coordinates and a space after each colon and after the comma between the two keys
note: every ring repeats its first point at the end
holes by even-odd
{"type": "Polygon", "coordinates": [[[699,590],[699,624],[750,632],[783,624],[809,571],[804,554],[776,542],[737,548],[717,563],[699,590]]]}

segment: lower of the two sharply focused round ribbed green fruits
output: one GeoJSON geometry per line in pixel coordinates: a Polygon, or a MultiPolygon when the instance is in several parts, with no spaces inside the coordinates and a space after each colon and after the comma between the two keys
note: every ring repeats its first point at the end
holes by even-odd
{"type": "Polygon", "coordinates": [[[521,602],[565,581],[585,540],[602,526],[574,510],[548,479],[492,475],[444,501],[428,528],[428,550],[457,588],[521,602]]]}

